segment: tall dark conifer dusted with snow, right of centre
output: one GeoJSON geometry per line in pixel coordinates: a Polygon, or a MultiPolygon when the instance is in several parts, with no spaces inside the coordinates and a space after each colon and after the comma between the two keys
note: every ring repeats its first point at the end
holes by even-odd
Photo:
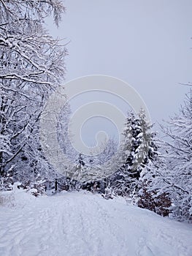
{"type": "Polygon", "coordinates": [[[144,110],[140,110],[138,115],[128,113],[118,157],[121,166],[112,181],[119,195],[131,195],[138,191],[142,170],[156,151],[151,127],[144,110]]]}

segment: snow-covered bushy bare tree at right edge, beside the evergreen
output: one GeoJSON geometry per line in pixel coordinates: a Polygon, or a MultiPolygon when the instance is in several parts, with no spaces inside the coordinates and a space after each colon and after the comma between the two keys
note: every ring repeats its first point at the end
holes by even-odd
{"type": "Polygon", "coordinates": [[[192,90],[186,94],[180,113],[161,127],[167,136],[164,154],[145,174],[147,190],[172,200],[172,216],[192,221],[192,90]]]}

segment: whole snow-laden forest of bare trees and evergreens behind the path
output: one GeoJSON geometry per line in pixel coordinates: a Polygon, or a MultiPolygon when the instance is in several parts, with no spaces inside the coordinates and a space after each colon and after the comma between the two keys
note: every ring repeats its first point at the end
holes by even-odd
{"type": "Polygon", "coordinates": [[[41,114],[64,80],[68,52],[44,23],[53,16],[58,26],[64,12],[60,0],[0,0],[0,190],[12,190],[16,182],[36,197],[49,191],[88,190],[106,200],[122,196],[163,217],[192,222],[190,83],[180,109],[159,126],[164,136],[147,121],[143,109],[129,110],[120,145],[110,138],[93,157],[72,147],[67,136],[71,110],[65,105],[58,140],[72,159],[66,164],[71,174],[58,173],[46,158],[41,114]],[[101,175],[106,172],[112,174],[101,175]]]}

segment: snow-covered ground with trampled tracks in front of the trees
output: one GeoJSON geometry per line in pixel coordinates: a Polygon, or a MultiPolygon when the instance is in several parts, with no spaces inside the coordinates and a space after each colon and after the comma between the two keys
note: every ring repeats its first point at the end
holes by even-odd
{"type": "MultiPolygon", "coordinates": [[[[10,193],[10,192],[9,192],[10,193]]],[[[191,256],[192,225],[84,192],[0,206],[2,256],[191,256]]]]}

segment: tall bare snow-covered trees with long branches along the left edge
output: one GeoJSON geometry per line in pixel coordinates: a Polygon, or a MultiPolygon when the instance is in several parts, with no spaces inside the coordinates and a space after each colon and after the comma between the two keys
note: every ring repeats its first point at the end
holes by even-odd
{"type": "Polygon", "coordinates": [[[39,116],[64,77],[66,56],[43,22],[53,13],[58,25],[62,12],[59,0],[0,0],[1,175],[41,165],[39,116]]]}

